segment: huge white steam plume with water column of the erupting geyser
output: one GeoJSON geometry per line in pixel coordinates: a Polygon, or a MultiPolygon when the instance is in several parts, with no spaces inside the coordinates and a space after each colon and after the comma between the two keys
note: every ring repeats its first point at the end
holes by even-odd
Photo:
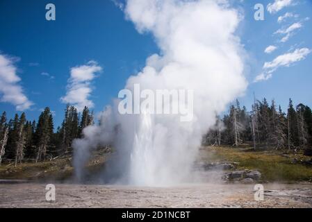
{"type": "MultiPolygon", "coordinates": [[[[185,182],[202,135],[215,124],[216,114],[243,94],[243,47],[235,35],[241,16],[227,1],[129,0],[124,8],[140,33],[154,35],[161,53],[131,76],[125,88],[192,89],[194,118],[177,115],[124,114],[117,100],[101,114],[101,124],[74,141],[78,178],[90,150],[112,144],[114,156],[102,179],[131,185],[163,186],[185,182]]],[[[174,101],[172,101],[174,103],[174,101]]]]}

